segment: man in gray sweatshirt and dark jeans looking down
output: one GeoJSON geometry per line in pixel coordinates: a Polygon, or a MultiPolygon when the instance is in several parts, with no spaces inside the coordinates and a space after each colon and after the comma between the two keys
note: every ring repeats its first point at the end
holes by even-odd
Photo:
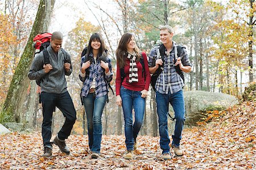
{"type": "Polygon", "coordinates": [[[43,106],[42,136],[44,144],[44,157],[51,157],[52,143],[59,146],[60,151],[69,154],[65,139],[71,134],[76,121],[76,110],[71,96],[67,90],[65,75],[72,73],[71,56],[61,49],[63,35],[53,32],[51,44],[47,47],[49,64],[44,64],[43,51],[35,56],[28,72],[30,80],[40,80],[41,101],[43,106]],[[59,108],[65,117],[65,123],[57,133],[53,142],[50,142],[52,132],[52,113],[55,107],[59,108]]]}

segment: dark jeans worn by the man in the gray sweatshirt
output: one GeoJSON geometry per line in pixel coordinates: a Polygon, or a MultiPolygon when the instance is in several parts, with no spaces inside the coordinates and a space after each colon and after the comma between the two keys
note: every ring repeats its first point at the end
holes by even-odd
{"type": "Polygon", "coordinates": [[[49,140],[52,137],[51,126],[53,110],[55,107],[59,108],[66,118],[64,125],[57,134],[61,140],[68,139],[68,136],[70,135],[76,121],[76,110],[68,92],[61,94],[42,92],[41,101],[43,106],[43,143],[44,146],[52,147],[52,143],[49,142],[49,140]]]}

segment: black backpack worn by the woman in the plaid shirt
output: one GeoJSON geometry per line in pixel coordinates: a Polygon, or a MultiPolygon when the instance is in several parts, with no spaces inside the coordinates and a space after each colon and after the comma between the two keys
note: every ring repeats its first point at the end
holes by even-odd
{"type": "MultiPolygon", "coordinates": [[[[105,52],[108,52],[108,50],[105,49],[105,52]]],[[[88,56],[86,55],[86,53],[87,53],[87,47],[85,47],[85,48],[83,49],[82,53],[81,53],[81,57],[85,56],[84,63],[86,63],[87,61],[90,61],[90,64],[92,64],[94,59],[93,59],[92,57],[88,57],[88,56]]],[[[106,57],[105,57],[105,56],[101,56],[99,60],[100,60],[100,61],[102,60],[102,61],[104,61],[104,62],[106,63],[106,57]]],[[[102,68],[102,69],[103,69],[104,72],[105,72],[105,69],[104,69],[104,68],[102,68]]],[[[89,74],[90,74],[90,69],[87,68],[87,69],[85,70],[85,72],[86,72],[85,77],[86,77],[86,76],[89,76],[89,74]]],[[[105,80],[105,82],[106,82],[108,88],[109,88],[110,90],[112,90],[112,93],[113,93],[113,95],[114,95],[114,90],[113,90],[112,86],[110,85],[110,81],[112,81],[112,80],[110,80],[109,82],[106,81],[105,76],[104,76],[104,80],[105,80]]],[[[107,102],[109,102],[108,91],[109,91],[109,90],[107,90],[107,102]]],[[[82,89],[81,89],[81,93],[80,93],[80,98],[81,98],[81,102],[82,102],[82,89]]],[[[82,102],[82,105],[84,105],[83,102],[82,102]]]]}

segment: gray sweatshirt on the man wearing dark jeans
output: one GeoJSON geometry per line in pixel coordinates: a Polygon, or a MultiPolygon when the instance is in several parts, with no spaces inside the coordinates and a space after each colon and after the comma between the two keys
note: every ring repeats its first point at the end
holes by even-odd
{"type": "Polygon", "coordinates": [[[48,73],[44,72],[44,56],[43,51],[35,56],[33,63],[31,65],[30,71],[28,72],[28,78],[30,80],[40,80],[41,92],[47,93],[64,93],[67,92],[67,81],[65,75],[69,76],[72,73],[72,65],[68,72],[64,69],[65,59],[71,61],[71,56],[59,50],[55,53],[49,45],[47,47],[47,52],[49,53],[49,63],[52,65],[53,69],[48,73]]]}

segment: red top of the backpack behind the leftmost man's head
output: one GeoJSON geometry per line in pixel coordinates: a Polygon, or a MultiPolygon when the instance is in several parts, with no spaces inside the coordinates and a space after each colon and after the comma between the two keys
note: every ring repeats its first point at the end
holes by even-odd
{"type": "Polygon", "coordinates": [[[33,39],[35,53],[39,53],[43,51],[44,48],[48,47],[50,44],[51,37],[52,37],[52,34],[49,32],[44,32],[42,34],[36,35],[35,38],[33,39]]]}

